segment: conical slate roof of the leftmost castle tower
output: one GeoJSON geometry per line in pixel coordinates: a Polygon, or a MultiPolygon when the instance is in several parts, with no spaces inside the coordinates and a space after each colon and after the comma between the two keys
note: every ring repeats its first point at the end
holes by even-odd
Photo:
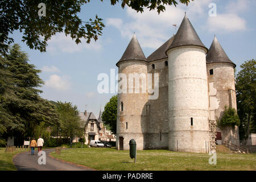
{"type": "Polygon", "coordinates": [[[135,34],[133,35],[133,38],[131,38],[131,41],[126,48],[125,53],[123,53],[123,56],[117,62],[117,64],[120,63],[121,61],[126,61],[126,60],[147,61],[135,34]]]}

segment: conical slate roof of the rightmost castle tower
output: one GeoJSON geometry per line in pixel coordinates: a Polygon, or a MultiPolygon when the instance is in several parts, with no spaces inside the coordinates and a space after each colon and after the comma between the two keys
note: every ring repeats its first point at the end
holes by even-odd
{"type": "Polygon", "coordinates": [[[232,63],[236,67],[236,64],[229,59],[220,43],[218,43],[216,36],[214,36],[212,45],[210,45],[206,60],[207,63],[232,63]]]}

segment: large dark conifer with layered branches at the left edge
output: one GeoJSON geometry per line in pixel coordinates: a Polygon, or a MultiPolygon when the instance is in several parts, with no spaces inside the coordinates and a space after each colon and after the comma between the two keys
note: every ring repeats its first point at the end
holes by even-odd
{"type": "Polygon", "coordinates": [[[38,88],[44,83],[38,76],[40,70],[28,63],[18,44],[0,57],[0,138],[17,133],[33,137],[40,122],[55,125],[59,119],[56,107],[39,96],[38,88]]]}

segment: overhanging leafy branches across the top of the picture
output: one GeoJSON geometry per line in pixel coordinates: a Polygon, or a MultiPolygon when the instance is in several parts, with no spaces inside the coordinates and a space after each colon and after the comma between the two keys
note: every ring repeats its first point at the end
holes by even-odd
{"type": "MultiPolygon", "coordinates": [[[[103,0],[101,0],[103,1],[103,0]]],[[[191,0],[193,1],[193,0],[191,0]]],[[[82,20],[78,14],[81,6],[90,0],[2,0],[0,1],[0,52],[7,52],[8,45],[14,42],[11,34],[15,30],[23,32],[22,41],[31,49],[39,49],[46,52],[47,41],[57,32],[65,32],[70,35],[77,44],[81,39],[90,43],[91,39],[97,40],[102,35],[105,27],[102,19],[97,15],[95,19],[82,20]],[[46,8],[40,3],[44,3],[46,8]],[[44,13],[45,16],[39,16],[44,13]]],[[[118,0],[111,0],[111,5],[118,0]]],[[[179,0],[187,4],[190,0],[179,0]]],[[[137,12],[143,12],[143,8],[156,9],[158,13],[164,11],[166,6],[177,5],[175,0],[130,0],[122,1],[121,6],[129,6],[137,12]]]]}

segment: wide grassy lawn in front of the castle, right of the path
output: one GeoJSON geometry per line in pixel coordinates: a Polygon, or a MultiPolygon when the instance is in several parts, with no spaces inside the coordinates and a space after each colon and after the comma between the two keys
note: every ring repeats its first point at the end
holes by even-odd
{"type": "Polygon", "coordinates": [[[256,154],[232,154],[224,146],[217,147],[217,165],[208,163],[208,154],[168,150],[137,151],[137,163],[129,151],[114,148],[72,148],[51,155],[97,170],[256,170],[256,154]]]}

